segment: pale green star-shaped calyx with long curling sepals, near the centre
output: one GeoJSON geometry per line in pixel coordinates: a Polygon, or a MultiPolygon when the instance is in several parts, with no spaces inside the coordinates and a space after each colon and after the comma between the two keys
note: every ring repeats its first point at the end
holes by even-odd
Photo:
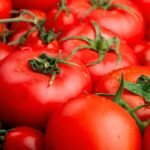
{"type": "Polygon", "coordinates": [[[65,37],[65,38],[61,39],[61,41],[66,41],[66,40],[71,40],[71,39],[82,40],[87,43],[85,45],[75,47],[72,50],[70,57],[74,56],[78,50],[90,49],[92,51],[95,51],[99,54],[99,58],[95,62],[90,62],[90,63],[86,64],[87,66],[91,66],[91,65],[100,63],[105,58],[105,55],[109,51],[114,51],[118,56],[117,63],[119,63],[121,60],[121,54],[119,51],[120,40],[117,37],[105,39],[101,35],[98,24],[95,21],[92,21],[92,25],[95,30],[95,39],[90,39],[85,36],[70,36],[70,37],[65,37]]]}

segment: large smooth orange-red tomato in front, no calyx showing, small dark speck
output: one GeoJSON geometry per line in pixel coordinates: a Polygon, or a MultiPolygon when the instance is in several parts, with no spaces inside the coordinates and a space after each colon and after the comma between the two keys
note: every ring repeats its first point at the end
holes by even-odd
{"type": "Polygon", "coordinates": [[[56,110],[46,130],[46,150],[141,150],[134,119],[105,97],[83,95],[56,110]]]}

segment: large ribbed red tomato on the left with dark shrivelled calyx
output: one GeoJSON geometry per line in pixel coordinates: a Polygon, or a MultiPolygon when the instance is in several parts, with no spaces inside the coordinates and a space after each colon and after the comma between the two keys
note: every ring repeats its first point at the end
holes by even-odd
{"type": "Polygon", "coordinates": [[[85,91],[91,92],[87,68],[79,60],[64,60],[65,56],[51,51],[29,47],[17,50],[1,63],[0,120],[10,126],[43,129],[55,108],[85,91]]]}

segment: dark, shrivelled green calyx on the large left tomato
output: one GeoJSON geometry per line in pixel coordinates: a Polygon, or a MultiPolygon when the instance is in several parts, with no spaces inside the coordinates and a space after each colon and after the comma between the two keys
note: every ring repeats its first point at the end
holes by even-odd
{"type": "Polygon", "coordinates": [[[42,53],[38,58],[31,59],[28,62],[32,71],[44,75],[52,75],[49,82],[50,86],[53,84],[56,75],[61,73],[61,68],[58,64],[77,65],[67,61],[66,58],[60,58],[60,54],[57,57],[52,57],[46,53],[42,53]]]}

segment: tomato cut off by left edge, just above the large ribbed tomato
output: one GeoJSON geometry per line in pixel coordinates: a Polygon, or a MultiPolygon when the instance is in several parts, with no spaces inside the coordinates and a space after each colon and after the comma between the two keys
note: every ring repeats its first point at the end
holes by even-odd
{"type": "Polygon", "coordinates": [[[11,54],[14,49],[7,44],[0,42],[0,61],[3,60],[6,56],[11,54]]]}

